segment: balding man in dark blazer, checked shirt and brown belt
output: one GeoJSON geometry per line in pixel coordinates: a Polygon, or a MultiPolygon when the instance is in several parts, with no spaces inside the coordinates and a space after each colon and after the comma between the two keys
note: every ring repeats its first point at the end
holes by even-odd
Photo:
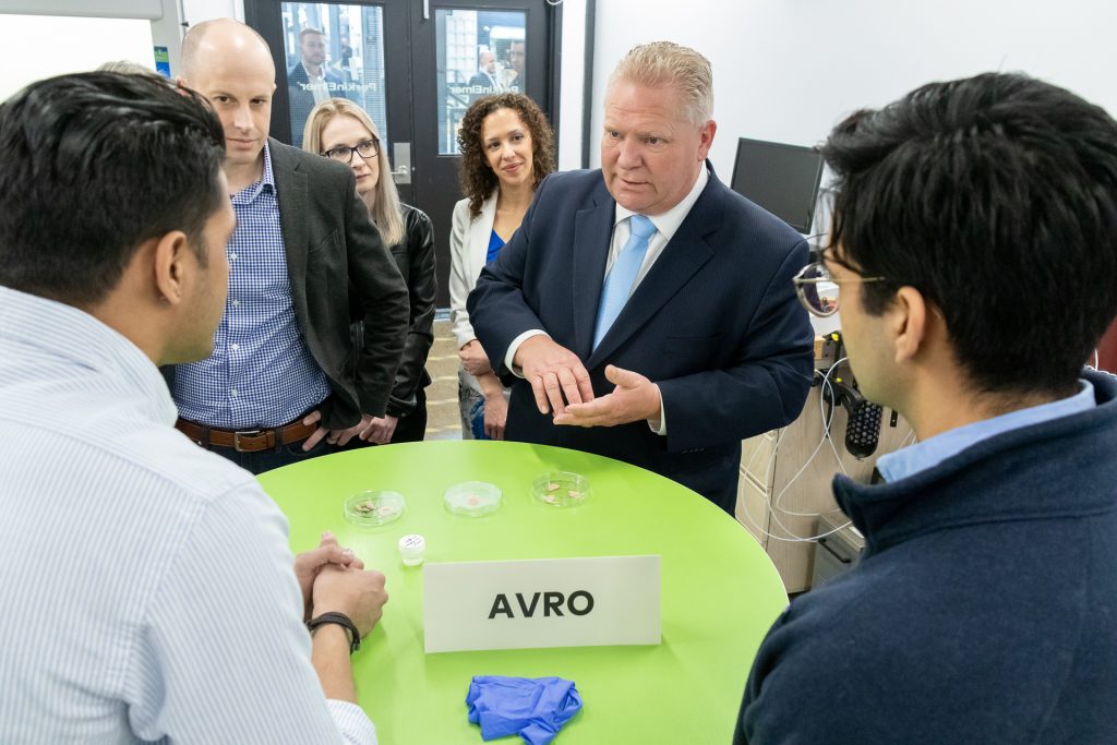
{"type": "Polygon", "coordinates": [[[408,292],[352,170],[268,139],[275,67],[256,31],[199,23],[183,40],[182,70],[221,118],[237,229],[214,353],[176,367],[171,391],[182,431],[260,472],[328,452],[384,414],[408,292]],[[360,350],[351,281],[365,319],[360,350]]]}

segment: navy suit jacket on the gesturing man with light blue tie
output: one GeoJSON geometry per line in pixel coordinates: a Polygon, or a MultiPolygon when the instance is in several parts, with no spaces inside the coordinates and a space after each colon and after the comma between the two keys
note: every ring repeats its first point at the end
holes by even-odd
{"type": "Polygon", "coordinates": [[[662,474],[733,510],[741,440],[783,427],[803,408],[813,332],[792,277],[806,242],[786,223],[726,188],[710,169],[678,231],[613,326],[593,345],[615,202],[600,170],[556,173],[540,184],[524,222],[469,295],[493,369],[525,331],[542,328],[582,360],[595,395],[613,385],[605,365],[659,384],[667,436],[647,422],[556,427],[531,384],[512,389],[509,440],[574,448],[662,474]]]}

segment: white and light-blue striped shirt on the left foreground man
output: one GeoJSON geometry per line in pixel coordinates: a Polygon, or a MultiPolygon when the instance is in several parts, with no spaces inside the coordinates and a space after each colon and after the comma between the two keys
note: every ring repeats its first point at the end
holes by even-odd
{"type": "Polygon", "coordinates": [[[0,287],[2,743],[375,743],[311,665],[287,520],[90,315],[0,287]]]}

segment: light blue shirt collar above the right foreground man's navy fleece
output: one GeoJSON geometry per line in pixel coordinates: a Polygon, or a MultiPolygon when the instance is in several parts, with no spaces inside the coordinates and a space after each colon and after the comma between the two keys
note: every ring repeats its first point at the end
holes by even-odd
{"type": "Polygon", "coordinates": [[[1085,380],[1079,380],[1078,383],[1081,385],[1081,390],[1070,398],[1011,411],[1000,417],[958,427],[923,442],[917,442],[909,448],[880,456],[877,460],[877,470],[880,471],[886,481],[898,481],[913,474],[933,468],[970,446],[1002,432],[1088,411],[1097,405],[1094,398],[1094,385],[1085,380]]]}

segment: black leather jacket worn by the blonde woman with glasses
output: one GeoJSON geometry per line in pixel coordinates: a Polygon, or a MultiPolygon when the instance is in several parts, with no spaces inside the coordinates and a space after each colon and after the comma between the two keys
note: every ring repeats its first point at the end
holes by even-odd
{"type": "MultiPolygon", "coordinates": [[[[410,204],[400,204],[403,212],[403,240],[391,246],[392,258],[403,275],[411,303],[411,323],[403,346],[403,357],[395,372],[395,383],[388,400],[388,413],[407,417],[416,407],[416,392],[430,385],[427,355],[435,343],[435,296],[438,280],[435,277],[435,228],[430,218],[410,204]]],[[[350,319],[353,344],[361,348],[364,322],[355,288],[350,285],[350,319]]]]}

